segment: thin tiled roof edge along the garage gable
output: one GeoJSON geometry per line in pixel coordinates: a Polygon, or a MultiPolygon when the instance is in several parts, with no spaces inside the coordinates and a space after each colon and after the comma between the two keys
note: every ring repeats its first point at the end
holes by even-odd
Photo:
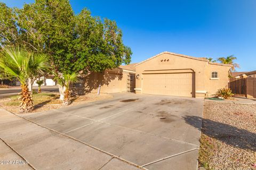
{"type": "Polygon", "coordinates": [[[171,54],[171,55],[175,55],[175,56],[190,58],[190,59],[193,59],[193,60],[208,62],[209,64],[223,65],[223,66],[232,66],[231,64],[212,63],[212,62],[210,62],[209,60],[207,60],[207,59],[204,58],[204,57],[191,57],[191,56],[188,56],[188,55],[177,54],[177,53],[171,53],[171,52],[163,52],[163,53],[157,54],[157,55],[155,55],[155,56],[153,56],[153,57],[148,58],[147,60],[144,60],[144,61],[142,61],[142,62],[136,64],[135,66],[140,65],[140,64],[142,64],[142,63],[145,63],[145,62],[147,62],[147,61],[149,61],[149,60],[151,60],[151,59],[153,59],[153,58],[156,58],[156,57],[158,57],[158,56],[160,56],[160,55],[162,55],[162,54],[171,54]]]}

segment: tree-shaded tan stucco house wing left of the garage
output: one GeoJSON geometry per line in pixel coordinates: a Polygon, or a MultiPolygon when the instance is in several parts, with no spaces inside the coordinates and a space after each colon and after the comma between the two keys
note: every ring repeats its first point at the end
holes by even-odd
{"type": "Polygon", "coordinates": [[[134,91],[135,64],[121,65],[101,73],[93,72],[85,78],[80,78],[71,90],[77,94],[98,92],[99,89],[102,93],[134,91]]]}

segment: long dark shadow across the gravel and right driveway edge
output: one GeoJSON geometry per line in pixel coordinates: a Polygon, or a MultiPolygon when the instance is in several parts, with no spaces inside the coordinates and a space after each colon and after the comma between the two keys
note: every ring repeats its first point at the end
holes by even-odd
{"type": "Polygon", "coordinates": [[[215,122],[198,116],[183,116],[187,124],[194,126],[198,130],[211,137],[225,142],[227,145],[256,151],[256,133],[244,129],[238,129],[228,124],[215,122]]]}

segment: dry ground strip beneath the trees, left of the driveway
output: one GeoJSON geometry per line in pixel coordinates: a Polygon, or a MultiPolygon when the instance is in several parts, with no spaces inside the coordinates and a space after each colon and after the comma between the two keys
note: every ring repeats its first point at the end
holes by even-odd
{"type": "MultiPolygon", "coordinates": [[[[6,109],[12,113],[20,113],[18,100],[19,95],[10,96],[8,98],[0,99],[0,107],[6,109]]],[[[74,96],[71,99],[71,104],[69,106],[90,103],[93,101],[109,99],[113,96],[109,94],[86,94],[82,96],[74,96]]],[[[48,111],[50,109],[57,109],[61,107],[68,107],[62,104],[59,100],[59,94],[54,92],[42,92],[41,94],[33,94],[34,110],[31,112],[42,112],[48,111]]]]}

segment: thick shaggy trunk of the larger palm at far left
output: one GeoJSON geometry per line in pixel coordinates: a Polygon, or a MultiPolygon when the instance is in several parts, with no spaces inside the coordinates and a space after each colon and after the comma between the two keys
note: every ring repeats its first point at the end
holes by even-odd
{"type": "Polygon", "coordinates": [[[21,100],[20,110],[21,112],[29,112],[34,109],[34,104],[31,96],[31,92],[28,90],[27,84],[21,84],[21,93],[19,100],[21,100]]]}

